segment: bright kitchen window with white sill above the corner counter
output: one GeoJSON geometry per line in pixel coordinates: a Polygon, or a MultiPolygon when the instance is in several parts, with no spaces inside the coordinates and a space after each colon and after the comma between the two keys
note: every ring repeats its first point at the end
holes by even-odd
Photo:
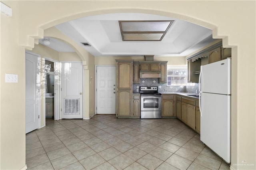
{"type": "Polygon", "coordinates": [[[167,86],[194,86],[194,83],[188,83],[187,72],[187,65],[168,65],[167,86]]]}

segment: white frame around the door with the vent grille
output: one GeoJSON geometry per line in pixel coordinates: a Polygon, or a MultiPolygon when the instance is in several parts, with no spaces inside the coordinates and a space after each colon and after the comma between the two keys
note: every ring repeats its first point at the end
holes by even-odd
{"type": "MultiPolygon", "coordinates": [[[[84,65],[83,65],[83,62],[82,61],[58,61],[59,62],[59,70],[60,70],[60,74],[59,74],[59,119],[62,119],[61,118],[61,113],[60,113],[60,109],[62,107],[62,97],[61,97],[61,69],[62,69],[62,63],[82,63],[82,119],[84,119],[84,80],[85,80],[85,77],[84,77],[84,65]]],[[[55,106],[55,105],[54,105],[55,106]]],[[[54,115],[55,116],[55,115],[54,115]]]]}

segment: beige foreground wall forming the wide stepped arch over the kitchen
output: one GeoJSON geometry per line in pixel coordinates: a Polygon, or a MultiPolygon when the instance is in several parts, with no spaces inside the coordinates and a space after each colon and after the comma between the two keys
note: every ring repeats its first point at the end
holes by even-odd
{"type": "MultiPolygon", "coordinates": [[[[1,14],[0,169],[21,169],[25,166],[25,51],[19,45],[34,47],[33,38],[42,38],[43,30],[56,24],[82,16],[113,12],[142,12],[187,20],[212,29],[214,38],[224,38],[224,47],[233,47],[231,166],[234,169],[256,169],[255,1],[2,2],[12,8],[13,16],[9,18],[1,14]],[[48,13],[42,12],[42,9],[47,9],[48,13]],[[18,84],[4,83],[4,73],[8,72],[18,74],[18,84]],[[15,107],[7,107],[13,104],[15,107]],[[254,166],[246,166],[243,160],[254,166]]],[[[90,67],[88,57],[83,61],[86,67],[90,67]]],[[[85,72],[88,72],[85,76],[89,77],[91,73],[87,69],[85,72]]],[[[86,90],[90,91],[88,87],[86,90]]]]}

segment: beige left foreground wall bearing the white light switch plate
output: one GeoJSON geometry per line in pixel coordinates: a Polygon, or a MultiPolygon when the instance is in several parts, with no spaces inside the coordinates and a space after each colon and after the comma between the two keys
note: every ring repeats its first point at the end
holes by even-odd
{"type": "MultiPolygon", "coordinates": [[[[4,2],[5,3],[5,2],[4,2]]],[[[0,169],[25,166],[25,49],[18,46],[18,4],[8,1],[12,17],[1,13],[0,30],[0,169]],[[18,83],[5,83],[5,73],[18,83]]]]}

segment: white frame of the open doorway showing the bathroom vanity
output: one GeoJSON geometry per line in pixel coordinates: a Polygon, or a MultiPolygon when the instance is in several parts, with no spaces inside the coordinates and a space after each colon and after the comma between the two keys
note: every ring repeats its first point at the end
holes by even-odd
{"type": "MultiPolygon", "coordinates": [[[[59,61],[57,60],[54,60],[52,58],[48,58],[48,57],[43,57],[42,59],[44,59],[44,63],[42,65],[42,68],[44,67],[45,65],[45,60],[48,60],[48,61],[52,61],[54,62],[54,120],[60,120],[60,72],[57,72],[56,70],[59,70],[59,61]],[[58,67],[57,67],[58,65],[58,67]],[[59,79],[55,79],[56,77],[56,74],[58,74],[58,77],[59,79]],[[57,89],[56,89],[57,87],[57,89]]],[[[43,73],[45,74],[46,71],[43,69],[43,73]]],[[[45,82],[43,83],[42,85],[45,89],[45,82]]],[[[43,110],[44,110],[44,124],[45,124],[45,119],[46,119],[46,104],[45,104],[45,93],[43,93],[43,97],[44,97],[44,103],[43,103],[43,110]]]]}

